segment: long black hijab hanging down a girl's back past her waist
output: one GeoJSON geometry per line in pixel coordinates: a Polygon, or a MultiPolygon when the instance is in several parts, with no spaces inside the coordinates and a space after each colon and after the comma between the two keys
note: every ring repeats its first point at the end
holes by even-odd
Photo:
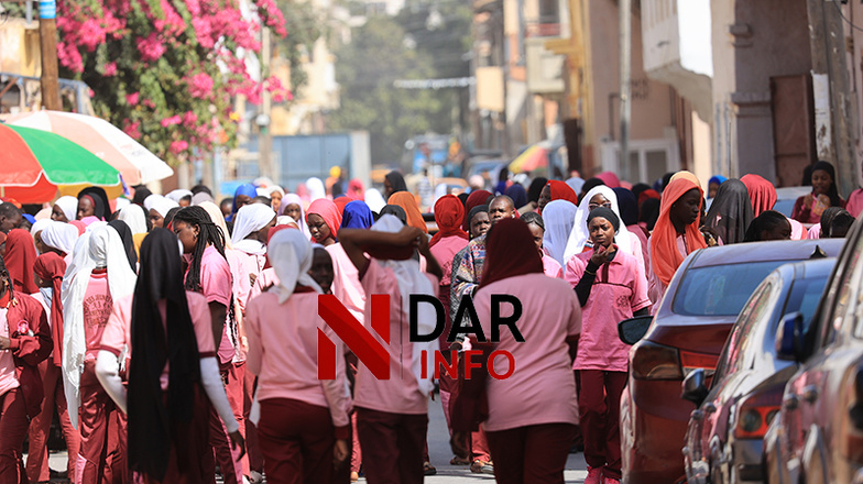
{"type": "Polygon", "coordinates": [[[129,468],[162,481],[172,446],[178,452],[178,465],[192,465],[197,459],[182,455],[189,448],[188,432],[172,430],[192,420],[195,387],[200,382],[198,342],[183,287],[177,238],[165,229],[153,229],[141,244],[131,338],[129,468]],[[157,305],[162,299],[167,305],[164,326],[157,305]],[[167,400],[160,384],[165,363],[170,365],[167,400]]]}

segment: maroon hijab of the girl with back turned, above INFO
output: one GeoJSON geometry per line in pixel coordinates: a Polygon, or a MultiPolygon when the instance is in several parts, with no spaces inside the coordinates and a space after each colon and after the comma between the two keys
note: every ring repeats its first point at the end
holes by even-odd
{"type": "Polygon", "coordinates": [[[499,220],[485,237],[485,266],[480,287],[532,273],[543,274],[543,258],[531,229],[521,220],[499,220]]]}

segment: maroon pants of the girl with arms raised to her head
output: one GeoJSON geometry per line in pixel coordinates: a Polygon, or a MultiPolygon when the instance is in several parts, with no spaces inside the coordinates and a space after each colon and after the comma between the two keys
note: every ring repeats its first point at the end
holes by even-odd
{"type": "Polygon", "coordinates": [[[428,416],[357,409],[369,484],[422,484],[428,416]]]}

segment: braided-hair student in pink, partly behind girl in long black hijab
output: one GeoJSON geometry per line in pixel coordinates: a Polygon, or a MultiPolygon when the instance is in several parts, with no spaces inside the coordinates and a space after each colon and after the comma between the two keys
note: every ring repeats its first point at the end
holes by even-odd
{"type": "MultiPolygon", "coordinates": [[[[233,416],[243,432],[243,367],[233,364],[239,343],[239,326],[233,299],[233,277],[225,253],[225,235],[200,207],[186,207],[174,216],[174,233],[183,244],[188,263],[185,287],[200,293],[210,307],[214,341],[217,344],[222,381],[233,416]]],[[[216,463],[226,483],[242,483],[242,455],[231,449],[226,424],[216,411],[210,414],[210,442],[216,463]]]]}

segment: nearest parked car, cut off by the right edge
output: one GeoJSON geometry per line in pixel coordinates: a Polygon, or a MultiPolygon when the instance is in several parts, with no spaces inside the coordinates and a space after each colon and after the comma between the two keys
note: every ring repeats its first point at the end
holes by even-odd
{"type": "Polygon", "coordinates": [[[812,324],[783,321],[777,355],[804,362],[765,437],[771,483],[863,483],[863,226],[848,235],[812,324]]]}

